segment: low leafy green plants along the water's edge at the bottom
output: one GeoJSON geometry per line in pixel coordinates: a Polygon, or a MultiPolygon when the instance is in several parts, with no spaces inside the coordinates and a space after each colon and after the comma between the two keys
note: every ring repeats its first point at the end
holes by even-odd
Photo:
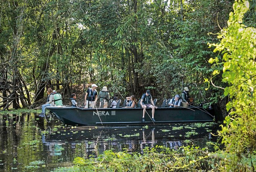
{"type": "MultiPolygon", "coordinates": [[[[141,153],[104,151],[97,158],[74,159],[74,168],[79,167],[81,172],[123,172],[123,171],[189,171],[189,172],[214,172],[219,171],[224,165],[225,152],[209,153],[206,148],[187,146],[178,150],[156,146],[143,149],[141,153]]],[[[244,158],[246,159],[246,157],[244,158]]],[[[229,161],[229,160],[228,160],[229,161]]],[[[255,157],[253,157],[255,163],[255,157]]],[[[243,169],[251,171],[250,163],[238,164],[243,169]]],[[[71,168],[70,168],[71,171],[71,168]]]]}

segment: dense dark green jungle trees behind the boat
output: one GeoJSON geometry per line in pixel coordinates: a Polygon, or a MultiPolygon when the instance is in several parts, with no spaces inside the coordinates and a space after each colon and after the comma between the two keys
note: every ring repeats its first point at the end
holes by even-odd
{"type": "MultiPolygon", "coordinates": [[[[111,95],[146,89],[163,99],[188,86],[196,103],[228,101],[204,78],[213,71],[214,34],[227,27],[232,0],[3,0],[0,109],[29,107],[46,88],[104,85],[111,95]],[[218,22],[217,22],[218,21],[218,22]]],[[[255,1],[244,19],[255,25],[255,1]]],[[[215,85],[225,87],[220,77],[215,85]]],[[[100,89],[99,88],[99,89],[100,89]]],[[[120,96],[120,95],[119,95],[120,96]]]]}

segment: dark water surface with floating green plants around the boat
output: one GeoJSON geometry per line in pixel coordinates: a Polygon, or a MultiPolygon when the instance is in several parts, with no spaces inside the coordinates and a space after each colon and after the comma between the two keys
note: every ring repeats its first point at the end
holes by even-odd
{"type": "Polygon", "coordinates": [[[108,149],[143,153],[143,148],[162,145],[173,149],[215,142],[215,123],[165,126],[65,126],[37,114],[0,116],[0,172],[51,171],[72,166],[75,157],[97,156],[108,149]]]}

